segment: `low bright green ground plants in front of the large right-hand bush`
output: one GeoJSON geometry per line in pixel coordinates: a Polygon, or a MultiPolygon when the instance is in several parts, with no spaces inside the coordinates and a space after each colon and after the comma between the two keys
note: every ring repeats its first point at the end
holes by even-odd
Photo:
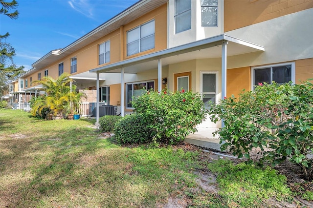
{"type": "Polygon", "coordinates": [[[217,174],[221,188],[219,194],[240,207],[262,207],[263,199],[271,197],[291,199],[286,177],[278,175],[276,170],[269,167],[260,169],[245,163],[234,165],[229,160],[217,160],[207,167],[217,174]]]}

